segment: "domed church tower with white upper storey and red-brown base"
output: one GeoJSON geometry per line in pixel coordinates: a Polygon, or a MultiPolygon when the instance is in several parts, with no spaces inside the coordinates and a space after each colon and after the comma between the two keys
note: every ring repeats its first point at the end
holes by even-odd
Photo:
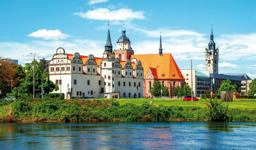
{"type": "Polygon", "coordinates": [[[122,36],[119,37],[118,41],[116,42],[116,50],[114,50],[115,57],[119,58],[119,60],[129,60],[131,59],[131,55],[134,54],[134,51],[131,47],[131,42],[128,37],[125,35],[125,30],[122,30],[122,36]]]}

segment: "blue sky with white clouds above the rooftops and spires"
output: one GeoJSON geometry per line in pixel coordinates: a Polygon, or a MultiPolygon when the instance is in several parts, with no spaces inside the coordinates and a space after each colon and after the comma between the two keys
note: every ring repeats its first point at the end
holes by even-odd
{"type": "Polygon", "coordinates": [[[219,73],[256,77],[255,0],[1,0],[0,56],[24,60],[36,52],[51,59],[67,53],[102,57],[110,21],[112,45],[121,30],[135,54],[171,52],[180,69],[205,69],[204,48],[211,24],[219,47],[219,73]]]}

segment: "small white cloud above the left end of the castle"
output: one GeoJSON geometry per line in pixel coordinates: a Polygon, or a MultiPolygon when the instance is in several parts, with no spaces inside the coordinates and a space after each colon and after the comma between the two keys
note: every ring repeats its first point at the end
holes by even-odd
{"type": "Polygon", "coordinates": [[[38,30],[28,35],[29,37],[40,37],[43,39],[65,39],[70,37],[68,34],[63,34],[60,30],[38,30]]]}

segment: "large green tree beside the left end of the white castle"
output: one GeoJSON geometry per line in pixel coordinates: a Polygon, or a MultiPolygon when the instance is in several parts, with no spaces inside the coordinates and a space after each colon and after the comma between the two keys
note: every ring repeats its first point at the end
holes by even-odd
{"type": "MultiPolygon", "coordinates": [[[[25,70],[26,77],[21,79],[20,86],[14,89],[14,94],[17,97],[23,93],[33,93],[33,67],[31,65],[26,65],[25,70]]],[[[35,93],[41,93],[40,89],[42,84],[42,78],[45,93],[52,92],[53,90],[58,90],[59,86],[54,82],[48,80],[49,73],[42,70],[43,69],[40,62],[38,63],[37,61],[35,61],[35,89],[39,89],[39,91],[35,91],[35,93]]]]}

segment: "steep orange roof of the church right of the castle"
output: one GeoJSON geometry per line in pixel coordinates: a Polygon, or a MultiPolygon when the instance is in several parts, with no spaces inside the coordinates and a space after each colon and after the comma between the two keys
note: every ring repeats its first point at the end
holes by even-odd
{"type": "Polygon", "coordinates": [[[157,70],[156,75],[154,75],[157,77],[156,79],[161,80],[162,74],[164,74],[163,79],[185,80],[171,53],[163,53],[162,56],[159,56],[159,54],[131,55],[131,60],[133,58],[141,61],[144,75],[147,75],[147,70],[151,67],[157,70]]]}

